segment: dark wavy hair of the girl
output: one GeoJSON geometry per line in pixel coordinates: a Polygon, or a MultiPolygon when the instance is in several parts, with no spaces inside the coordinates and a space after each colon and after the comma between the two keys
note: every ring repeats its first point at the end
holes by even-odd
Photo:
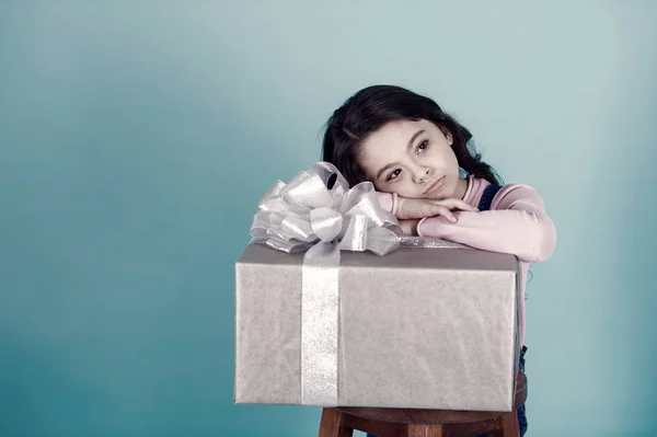
{"type": "Polygon", "coordinates": [[[502,185],[499,175],[469,143],[472,134],[465,127],[431,99],[394,85],[365,88],[335,110],[325,125],[322,160],[335,165],[351,186],[367,181],[358,165],[362,141],[387,123],[400,119],[426,119],[445,135],[451,134],[459,166],[475,177],[502,185]]]}

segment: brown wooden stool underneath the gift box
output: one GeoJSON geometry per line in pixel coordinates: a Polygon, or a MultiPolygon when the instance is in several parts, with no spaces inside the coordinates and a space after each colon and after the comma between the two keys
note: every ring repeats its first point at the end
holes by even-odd
{"type": "Polygon", "coordinates": [[[527,377],[518,373],[509,413],[415,409],[336,407],[322,411],[319,437],[351,437],[355,429],[379,437],[519,437],[516,410],[527,400],[527,377]]]}

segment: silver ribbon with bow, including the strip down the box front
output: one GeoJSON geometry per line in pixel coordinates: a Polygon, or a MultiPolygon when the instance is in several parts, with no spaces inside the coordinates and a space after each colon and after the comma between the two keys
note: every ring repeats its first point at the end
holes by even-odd
{"type": "Polygon", "coordinates": [[[301,286],[301,403],[337,403],[337,329],[341,251],[379,256],[400,246],[459,246],[440,240],[400,237],[394,215],[383,210],[370,182],[353,188],[341,172],[319,162],[289,183],[277,181],[253,219],[255,243],[286,253],[303,252],[301,286]],[[333,186],[328,188],[330,183],[333,186]]]}

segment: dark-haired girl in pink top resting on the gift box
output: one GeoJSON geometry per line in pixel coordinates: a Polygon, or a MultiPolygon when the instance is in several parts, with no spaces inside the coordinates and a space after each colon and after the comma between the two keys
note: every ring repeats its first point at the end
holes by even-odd
{"type": "MultiPolygon", "coordinates": [[[[370,181],[381,206],[397,217],[405,234],[516,255],[522,275],[523,344],[528,266],[550,257],[555,229],[539,193],[527,185],[500,186],[495,171],[469,145],[471,138],[431,99],[400,87],[374,85],[333,113],[323,160],[351,186],[370,181]]],[[[523,346],[521,371],[525,352],[523,346]]],[[[525,405],[518,422],[525,435],[525,405]]]]}

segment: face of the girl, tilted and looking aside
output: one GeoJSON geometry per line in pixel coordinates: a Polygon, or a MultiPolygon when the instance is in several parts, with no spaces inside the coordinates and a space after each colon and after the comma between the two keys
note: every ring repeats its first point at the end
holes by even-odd
{"type": "Polygon", "coordinates": [[[461,198],[466,182],[459,179],[453,138],[431,122],[395,120],[369,135],[359,165],[379,192],[407,198],[461,198]]]}

